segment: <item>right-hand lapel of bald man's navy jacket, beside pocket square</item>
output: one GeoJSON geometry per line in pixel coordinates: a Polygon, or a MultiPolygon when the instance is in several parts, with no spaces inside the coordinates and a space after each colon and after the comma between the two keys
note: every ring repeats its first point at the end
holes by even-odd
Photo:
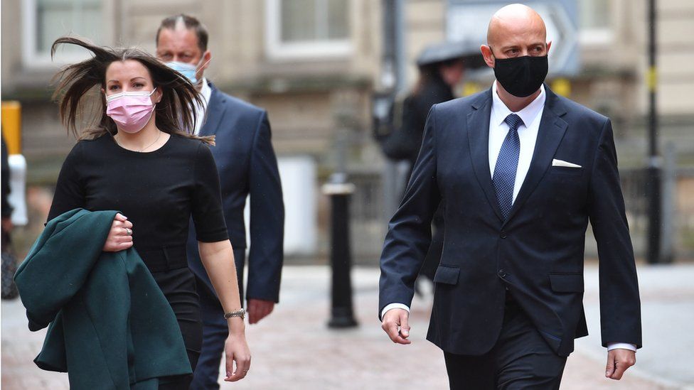
{"type": "Polygon", "coordinates": [[[533,190],[538,186],[540,180],[545,175],[545,172],[552,165],[552,158],[559,147],[559,144],[564,138],[564,133],[568,124],[561,117],[566,114],[566,110],[559,101],[557,95],[545,85],[545,93],[547,99],[545,101],[545,109],[543,110],[542,118],[540,119],[540,129],[538,130],[538,141],[535,143],[535,151],[533,151],[533,160],[530,161],[530,169],[525,175],[521,191],[513,202],[511,212],[508,214],[508,223],[518,209],[523,207],[523,203],[528,200],[528,197],[533,190]]]}

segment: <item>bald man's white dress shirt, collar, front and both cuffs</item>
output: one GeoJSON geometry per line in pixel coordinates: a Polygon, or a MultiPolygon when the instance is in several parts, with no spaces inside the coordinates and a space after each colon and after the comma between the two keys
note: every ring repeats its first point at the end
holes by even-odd
{"type": "MultiPolygon", "coordinates": [[[[506,117],[509,114],[516,114],[521,117],[523,124],[518,126],[518,138],[521,139],[521,153],[518,156],[518,168],[516,170],[516,183],[513,185],[513,202],[516,202],[516,197],[518,192],[521,190],[525,176],[528,175],[528,170],[530,169],[530,162],[533,161],[533,153],[535,152],[535,143],[538,141],[538,132],[540,131],[540,119],[542,119],[543,111],[545,110],[545,100],[547,99],[547,94],[545,93],[545,86],[540,86],[540,94],[535,97],[533,102],[530,102],[521,111],[512,112],[511,109],[506,107],[498,97],[496,89],[496,81],[493,83],[492,89],[492,102],[491,102],[491,115],[489,117],[489,171],[491,177],[494,177],[494,168],[496,168],[496,159],[498,158],[498,153],[501,151],[501,144],[503,139],[506,138],[508,134],[508,124],[506,124],[506,117]]],[[[383,315],[391,309],[403,309],[410,313],[410,307],[404,303],[390,303],[383,308],[381,311],[381,318],[383,315]]],[[[609,342],[607,345],[607,350],[632,350],[636,351],[636,345],[626,344],[623,342],[609,342]]]]}

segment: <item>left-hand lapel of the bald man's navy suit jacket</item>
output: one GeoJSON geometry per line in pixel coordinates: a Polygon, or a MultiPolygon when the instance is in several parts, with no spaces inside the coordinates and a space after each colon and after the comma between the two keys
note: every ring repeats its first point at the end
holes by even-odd
{"type": "Polygon", "coordinates": [[[472,103],[472,112],[467,115],[467,136],[470,145],[470,156],[475,176],[484,195],[486,195],[489,205],[499,220],[501,209],[498,206],[496,193],[491,182],[491,172],[489,172],[489,118],[491,116],[491,88],[481,98],[472,103]]]}

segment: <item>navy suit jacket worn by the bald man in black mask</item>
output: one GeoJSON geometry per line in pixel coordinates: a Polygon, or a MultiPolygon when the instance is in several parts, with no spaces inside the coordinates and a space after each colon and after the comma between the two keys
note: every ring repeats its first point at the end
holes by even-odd
{"type": "Polygon", "coordinates": [[[385,238],[380,310],[412,302],[432,216],[444,202],[444,247],[427,335],[444,351],[491,350],[511,293],[555,352],[570,354],[574,339],[587,335],[582,298],[589,221],[599,253],[603,345],[641,346],[639,288],[612,125],[545,90],[533,160],[506,220],[489,172],[491,89],[429,112],[420,156],[385,238]],[[582,168],[552,166],[553,158],[582,168]]]}

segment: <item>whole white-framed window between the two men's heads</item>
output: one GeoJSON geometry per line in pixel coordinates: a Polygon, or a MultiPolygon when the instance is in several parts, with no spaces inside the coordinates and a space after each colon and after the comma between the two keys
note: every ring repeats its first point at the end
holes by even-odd
{"type": "Polygon", "coordinates": [[[267,0],[271,58],[348,55],[349,0],[267,0]]]}

